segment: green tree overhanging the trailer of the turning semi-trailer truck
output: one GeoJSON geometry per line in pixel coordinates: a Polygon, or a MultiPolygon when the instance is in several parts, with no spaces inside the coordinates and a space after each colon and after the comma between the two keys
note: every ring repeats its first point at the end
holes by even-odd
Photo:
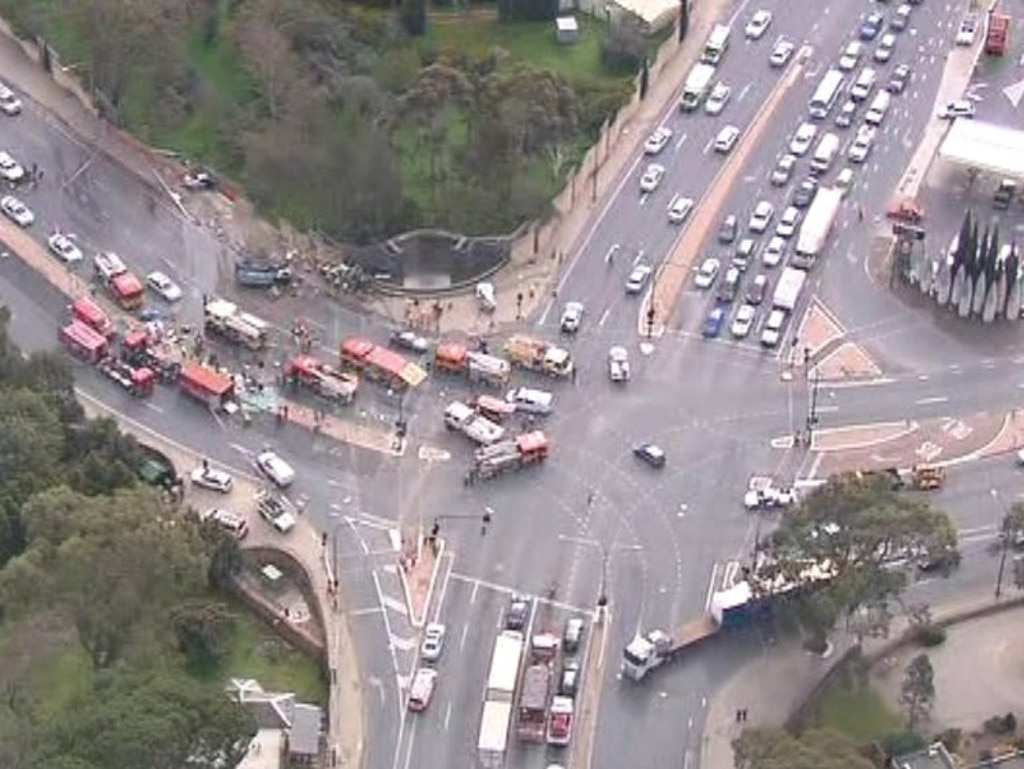
{"type": "MultiPolygon", "coordinates": [[[[890,567],[896,557],[916,552],[955,552],[949,517],[921,497],[900,494],[885,474],[833,476],[786,514],[770,540],[770,558],[754,575],[756,588],[782,579],[808,590],[797,602],[823,637],[843,616],[898,598],[905,571],[890,567]],[[820,569],[830,579],[819,581],[820,569]]],[[[883,617],[886,612],[882,612],[883,617]]]]}

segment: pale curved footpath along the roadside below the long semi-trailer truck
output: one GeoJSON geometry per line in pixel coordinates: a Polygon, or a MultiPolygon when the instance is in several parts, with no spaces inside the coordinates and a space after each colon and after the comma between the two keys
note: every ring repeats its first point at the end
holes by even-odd
{"type": "MultiPolygon", "coordinates": [[[[973,594],[932,609],[936,625],[949,626],[987,616],[1020,606],[1024,596],[996,601],[990,591],[973,594]]],[[[902,645],[909,630],[907,621],[893,621],[888,639],[869,639],[863,651],[869,663],[891,654],[902,645]]],[[[799,645],[772,649],[740,668],[708,704],[708,716],[700,745],[700,769],[733,769],[732,740],[743,729],[782,727],[825,681],[828,673],[852,648],[844,638],[828,658],[810,654],[799,645]],[[736,712],[746,710],[748,720],[740,724],[736,712]]]]}

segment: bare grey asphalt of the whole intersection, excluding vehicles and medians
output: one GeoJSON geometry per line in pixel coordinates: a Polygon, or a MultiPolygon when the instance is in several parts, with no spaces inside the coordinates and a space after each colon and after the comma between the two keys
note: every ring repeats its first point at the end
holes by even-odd
{"type": "MultiPolygon", "coordinates": [[[[712,147],[726,124],[744,131],[740,142],[753,143],[738,183],[723,190],[725,203],[714,212],[711,241],[721,215],[736,214],[743,228],[760,200],[771,202],[776,216],[781,212],[794,184],[807,176],[807,159],[798,162],[786,184],[770,184],[769,174],[796,127],[807,120],[807,101],[818,79],[856,36],[859,17],[876,7],[885,6],[867,0],[825,7],[765,0],[744,2],[732,19],[722,19],[733,28],[732,44],[717,74],[731,88],[729,102],[717,117],[702,110],[681,114],[674,102],[666,106],[662,125],[671,128],[673,138],[656,158],[667,169],[660,185],[651,194],[641,193],[639,177],[650,159],[638,149],[593,229],[570,255],[558,300],[536,319],[538,333],[554,336],[561,302],[582,301],[588,310],[580,334],[566,341],[579,376],[571,383],[539,385],[555,391],[554,414],[543,423],[553,443],[544,467],[489,484],[464,485],[470,446],[443,429],[440,415],[450,400],[468,392],[451,381],[430,383],[406,404],[412,440],[402,457],[391,458],[333,444],[292,425],[244,428],[231,420],[214,421],[172,391],[158,391],[144,401],[128,399],[112,392],[94,372],[76,368],[83,389],[201,448],[218,464],[246,466],[256,452],[272,444],[299,466],[296,496],[329,533],[350,598],[369,683],[368,766],[469,765],[490,648],[510,595],[532,597],[530,629],[558,632],[568,616],[590,616],[604,578],[610,599],[609,661],[602,680],[586,682],[602,690],[593,763],[653,767],[668,759],[688,767],[696,761],[707,699],[742,648],[712,648],[641,686],[617,680],[617,654],[639,628],[673,626],[701,612],[710,592],[748,557],[756,523],[739,504],[741,492],[752,475],[771,474],[793,459],[788,450],[772,448],[771,441],[793,432],[795,419],[802,419],[807,385],[780,378],[778,355],[756,344],[702,340],[697,330],[714,300],[690,286],[667,333],[649,346],[636,344],[642,303],[627,295],[625,282],[638,262],[651,264],[656,274],[687,237],[685,222],[678,226],[668,219],[675,196],[692,198],[696,208],[691,217],[696,217],[715,185],[729,181],[720,173],[725,159],[712,147]],[[772,24],[760,40],[745,40],[742,28],[759,8],[773,13],[772,24]],[[768,65],[779,37],[802,51],[799,79],[784,92],[777,90],[778,84],[790,70],[768,65]],[[767,128],[748,135],[766,104],[773,111],[767,128]],[[625,387],[607,376],[607,350],[616,343],[628,345],[632,357],[633,377],[625,387]],[[632,446],[643,440],[666,450],[666,468],[655,470],[632,456],[632,446]],[[485,509],[494,512],[481,536],[476,516],[485,509]],[[404,710],[403,687],[416,665],[417,630],[401,606],[389,529],[399,518],[415,528],[418,523],[429,526],[436,516],[449,550],[430,618],[446,625],[447,642],[434,700],[426,714],[412,717],[404,710]]],[[[915,6],[892,61],[876,66],[882,83],[898,63],[909,65],[913,79],[894,97],[867,162],[856,167],[836,234],[813,273],[812,289],[879,347],[892,336],[909,338],[918,330],[929,340],[925,344],[943,333],[873,284],[864,257],[877,231],[872,222],[933,114],[941,50],[955,22],[951,6],[915,6]]],[[[870,50],[868,46],[867,55],[870,50]]],[[[19,193],[36,212],[35,237],[42,242],[54,229],[73,232],[86,253],[113,250],[140,272],[169,271],[186,288],[178,312],[195,322],[201,297],[215,293],[229,276],[234,252],[183,217],[162,187],[141,183],[33,104],[4,125],[5,148],[46,172],[38,187],[19,193]]],[[[844,147],[843,159],[824,179],[827,184],[846,165],[855,127],[836,128],[829,119],[819,128],[824,130],[842,135],[844,147]]],[[[760,238],[760,248],[767,240],[760,238]]],[[[709,242],[707,249],[728,262],[726,247],[709,242]]],[[[781,265],[765,267],[755,260],[745,281],[759,271],[774,281],[780,270],[781,265]]],[[[56,290],[8,258],[0,261],[0,297],[13,311],[12,333],[20,344],[52,346],[65,312],[56,290]]],[[[381,334],[364,314],[309,297],[298,303],[244,301],[285,329],[290,313],[301,305],[328,348],[345,334],[381,334]]],[[[763,322],[760,315],[755,328],[763,322]]],[[[795,328],[792,321],[791,337],[795,328]]],[[[981,359],[968,345],[954,352],[949,345],[942,351],[933,346],[934,354],[908,351],[904,344],[889,349],[885,375],[874,382],[823,385],[822,427],[1013,408],[1024,385],[1024,358],[981,359]],[[901,367],[910,352],[910,362],[901,367]]],[[[381,416],[387,414],[388,407],[381,407],[381,416]]],[[[956,516],[966,543],[964,567],[953,581],[924,581],[911,595],[934,600],[950,585],[973,587],[991,579],[987,547],[998,511],[988,492],[997,488],[998,499],[1014,499],[1015,481],[1016,473],[1006,463],[979,464],[963,481],[957,475],[956,484],[937,502],[956,516]],[[987,512],[977,504],[979,497],[987,512]]],[[[587,642],[591,637],[588,629],[587,642]]],[[[566,758],[513,743],[509,766],[532,769],[555,760],[564,763],[566,758]]]]}

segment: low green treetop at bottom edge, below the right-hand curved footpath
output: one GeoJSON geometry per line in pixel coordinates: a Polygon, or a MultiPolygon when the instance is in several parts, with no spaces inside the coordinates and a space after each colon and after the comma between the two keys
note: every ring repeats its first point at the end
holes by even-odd
{"type": "Polygon", "coordinates": [[[814,729],[795,737],[784,729],[746,729],[733,740],[736,769],[870,769],[845,735],[814,729]]]}

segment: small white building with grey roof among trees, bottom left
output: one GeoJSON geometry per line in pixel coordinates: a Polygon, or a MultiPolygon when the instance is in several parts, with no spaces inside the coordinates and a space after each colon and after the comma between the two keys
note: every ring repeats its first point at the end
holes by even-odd
{"type": "Polygon", "coordinates": [[[232,678],[227,695],[253,715],[258,727],[243,766],[280,769],[316,762],[324,735],[323,709],[297,702],[290,692],[265,691],[251,678],[232,678]]]}

